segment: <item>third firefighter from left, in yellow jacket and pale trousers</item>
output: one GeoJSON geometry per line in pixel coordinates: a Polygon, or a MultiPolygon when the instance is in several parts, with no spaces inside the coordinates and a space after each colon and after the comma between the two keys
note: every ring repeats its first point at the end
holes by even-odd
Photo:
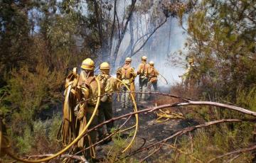
{"type": "MultiPolygon", "coordinates": [[[[135,91],[134,79],[135,77],[137,77],[137,73],[135,72],[135,69],[131,67],[131,62],[132,62],[132,58],[127,57],[125,59],[124,66],[117,69],[117,79],[122,80],[124,84],[129,86],[129,89],[131,89],[131,91],[135,91]]],[[[129,108],[130,106],[132,106],[129,104],[130,103],[129,90],[127,90],[127,88],[123,84],[121,84],[121,90],[122,90],[122,96],[121,96],[122,108],[129,108]]]]}

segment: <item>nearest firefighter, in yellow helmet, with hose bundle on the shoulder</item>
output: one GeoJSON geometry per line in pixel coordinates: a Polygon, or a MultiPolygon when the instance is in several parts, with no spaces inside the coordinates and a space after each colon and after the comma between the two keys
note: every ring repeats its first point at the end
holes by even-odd
{"type": "MultiPolygon", "coordinates": [[[[98,86],[96,77],[94,75],[95,63],[90,58],[87,58],[82,61],[81,68],[82,72],[80,73],[78,80],[78,89],[80,90],[79,101],[82,101],[82,103],[79,105],[77,116],[80,126],[78,135],[82,132],[82,129],[85,128],[87,120],[90,120],[97,103],[98,95],[98,86]],[[86,101],[86,99],[88,100],[86,101]]],[[[100,85],[100,87],[102,94],[104,94],[103,86],[100,85]]],[[[98,111],[95,118],[92,119],[92,123],[88,129],[97,125],[97,116],[98,111]]],[[[92,130],[90,133],[88,133],[88,135],[79,140],[78,148],[84,149],[85,147],[89,147],[90,145],[94,144],[96,142],[96,137],[97,131],[92,130]]],[[[95,158],[95,147],[90,148],[90,151],[85,151],[85,157],[87,157],[87,159],[95,158]]]]}

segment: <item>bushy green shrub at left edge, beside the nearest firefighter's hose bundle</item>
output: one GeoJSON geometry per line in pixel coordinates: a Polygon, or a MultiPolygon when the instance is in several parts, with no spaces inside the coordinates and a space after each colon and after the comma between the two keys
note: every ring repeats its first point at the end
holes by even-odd
{"type": "Polygon", "coordinates": [[[6,79],[7,86],[1,89],[5,95],[0,108],[7,119],[7,125],[10,126],[8,131],[13,147],[20,154],[37,150],[50,152],[46,149],[54,147],[55,143],[51,144],[49,141],[53,142],[53,135],[58,131],[56,128],[60,125],[60,116],[57,116],[58,120],[54,118],[53,123],[47,127],[47,120],[43,122],[38,118],[40,119],[41,112],[52,110],[54,105],[62,101],[60,90],[63,79],[62,72],[50,72],[43,64],[38,64],[35,72],[26,66],[14,69],[6,79]],[[35,147],[38,143],[41,143],[41,146],[35,147]]]}

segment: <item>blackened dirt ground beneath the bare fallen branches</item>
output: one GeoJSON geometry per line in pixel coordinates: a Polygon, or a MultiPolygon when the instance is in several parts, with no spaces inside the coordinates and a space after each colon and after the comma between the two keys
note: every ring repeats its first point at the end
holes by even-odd
{"type": "MultiPolygon", "coordinates": [[[[165,93],[169,93],[168,91],[165,93]]],[[[114,97],[115,99],[115,97],[114,97]]],[[[170,100],[171,101],[171,100],[170,100]]],[[[163,100],[161,96],[151,96],[151,100],[146,101],[146,103],[137,103],[138,110],[153,107],[156,105],[161,105],[164,103],[169,103],[169,100],[163,100]]],[[[180,110],[178,108],[167,108],[170,109],[172,113],[183,113],[186,114],[186,111],[180,110]]],[[[126,113],[133,112],[133,108],[129,109],[122,109],[120,106],[120,103],[118,101],[115,101],[113,103],[113,110],[114,110],[114,117],[122,116],[126,113]]],[[[167,120],[164,123],[156,122],[156,112],[153,113],[141,113],[139,114],[139,130],[137,133],[136,141],[134,142],[133,150],[139,149],[140,147],[146,147],[147,145],[150,145],[154,142],[158,142],[160,140],[163,140],[166,137],[169,137],[170,135],[174,134],[177,130],[181,130],[182,128],[186,128],[191,125],[198,124],[197,121],[193,120],[186,120],[186,119],[170,119],[167,120]]],[[[124,121],[126,118],[123,118],[121,120],[117,120],[114,122],[115,126],[118,126],[124,121]]],[[[135,118],[134,116],[129,120],[129,122],[124,126],[124,128],[128,128],[135,124],[135,118]]],[[[129,135],[129,132],[124,133],[129,135]]],[[[174,141],[174,140],[171,140],[174,141]]],[[[107,146],[112,145],[113,142],[108,143],[107,145],[102,145],[101,147],[103,150],[100,152],[101,157],[105,157],[107,151],[105,149],[108,149],[107,146]]],[[[154,149],[153,149],[154,150],[154,149]]],[[[146,157],[149,153],[151,153],[151,150],[144,150],[143,152],[139,152],[137,154],[134,154],[132,157],[140,160],[146,157]]],[[[171,150],[166,147],[162,147],[161,150],[156,152],[153,156],[146,159],[146,162],[157,162],[157,159],[162,154],[165,154],[171,156],[171,150]]]]}

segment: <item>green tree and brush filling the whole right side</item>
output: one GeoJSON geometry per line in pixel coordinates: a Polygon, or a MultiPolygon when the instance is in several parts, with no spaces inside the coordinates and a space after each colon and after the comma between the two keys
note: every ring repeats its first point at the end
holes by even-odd
{"type": "MultiPolygon", "coordinates": [[[[256,109],[255,1],[210,1],[199,4],[188,18],[186,48],[196,64],[199,84],[193,99],[232,103],[256,109]]],[[[193,89],[191,89],[193,91],[193,89]]],[[[188,94],[193,94],[188,93],[188,94]]],[[[196,106],[194,106],[196,107],[196,106]]],[[[196,108],[193,118],[207,122],[224,118],[252,118],[215,107],[196,108]]],[[[191,114],[189,115],[191,117],[191,114]]],[[[222,154],[255,144],[254,123],[225,123],[193,132],[178,140],[172,162],[208,162],[222,154]],[[192,159],[191,156],[196,159],[192,159]]],[[[214,162],[252,162],[252,152],[214,162]]]]}

